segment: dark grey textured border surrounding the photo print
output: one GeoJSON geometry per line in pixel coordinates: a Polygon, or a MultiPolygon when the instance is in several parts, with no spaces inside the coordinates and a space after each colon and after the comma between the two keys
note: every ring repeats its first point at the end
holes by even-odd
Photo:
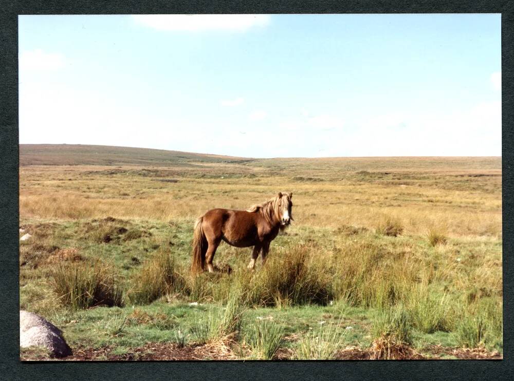
{"type": "Polygon", "coordinates": [[[514,25],[508,1],[245,1],[26,0],[0,6],[0,378],[4,379],[513,379],[512,319],[512,46],[514,25]],[[21,363],[19,361],[19,178],[17,15],[134,13],[502,13],[503,282],[504,360],[433,361],[175,361],[21,363]]]}

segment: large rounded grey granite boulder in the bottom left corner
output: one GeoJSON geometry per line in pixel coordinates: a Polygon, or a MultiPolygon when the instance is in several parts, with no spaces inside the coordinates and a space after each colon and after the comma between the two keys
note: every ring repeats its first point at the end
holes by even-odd
{"type": "Polygon", "coordinates": [[[20,311],[20,347],[46,347],[55,357],[72,354],[59,328],[32,312],[20,311]]]}

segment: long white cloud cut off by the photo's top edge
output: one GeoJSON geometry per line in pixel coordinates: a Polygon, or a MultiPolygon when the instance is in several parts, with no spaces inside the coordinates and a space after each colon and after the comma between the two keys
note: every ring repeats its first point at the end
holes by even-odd
{"type": "Polygon", "coordinates": [[[270,19],[265,14],[137,14],[132,17],[136,23],[157,30],[237,32],[266,26],[270,19]]]}

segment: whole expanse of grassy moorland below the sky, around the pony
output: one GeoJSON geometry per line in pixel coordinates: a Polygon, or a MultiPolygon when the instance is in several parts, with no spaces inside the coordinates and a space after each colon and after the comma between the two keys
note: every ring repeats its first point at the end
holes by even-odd
{"type": "Polygon", "coordinates": [[[70,360],[502,358],[501,183],[498,157],[21,145],[20,308],[70,360]],[[222,243],[191,275],[198,216],[279,191],[265,266],[222,243]]]}

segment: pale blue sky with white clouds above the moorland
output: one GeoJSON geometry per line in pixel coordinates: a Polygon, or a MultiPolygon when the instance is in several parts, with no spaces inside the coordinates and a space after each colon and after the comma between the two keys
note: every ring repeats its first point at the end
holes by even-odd
{"type": "Polygon", "coordinates": [[[20,16],[20,143],[500,156],[501,16],[20,16]]]}

